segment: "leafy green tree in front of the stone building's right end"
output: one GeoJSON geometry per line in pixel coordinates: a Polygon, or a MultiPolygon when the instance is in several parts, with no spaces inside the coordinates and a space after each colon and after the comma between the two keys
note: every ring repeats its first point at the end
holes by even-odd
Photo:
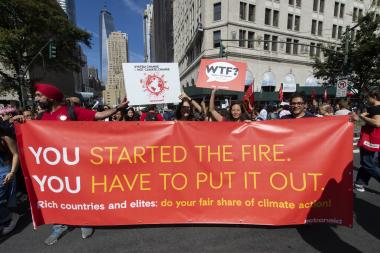
{"type": "Polygon", "coordinates": [[[337,48],[322,49],[324,60],[315,59],[314,75],[334,85],[348,76],[361,94],[380,85],[380,18],[369,12],[359,19],[358,29],[347,31],[337,48]]]}

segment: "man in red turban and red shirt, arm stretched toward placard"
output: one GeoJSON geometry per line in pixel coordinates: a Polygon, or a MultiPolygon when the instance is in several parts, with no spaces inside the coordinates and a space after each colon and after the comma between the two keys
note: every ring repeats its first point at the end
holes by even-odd
{"type": "MultiPolygon", "coordinates": [[[[78,120],[78,121],[93,121],[102,120],[115,114],[117,111],[125,110],[128,102],[122,102],[118,107],[102,112],[96,112],[81,108],[79,106],[63,105],[63,93],[51,84],[36,84],[35,85],[35,101],[44,110],[39,115],[40,120],[78,120]]],[[[68,232],[67,225],[54,225],[51,235],[46,238],[46,245],[53,245],[59,238],[68,232]]],[[[90,227],[82,227],[82,238],[86,239],[92,236],[94,229],[90,227]]]]}

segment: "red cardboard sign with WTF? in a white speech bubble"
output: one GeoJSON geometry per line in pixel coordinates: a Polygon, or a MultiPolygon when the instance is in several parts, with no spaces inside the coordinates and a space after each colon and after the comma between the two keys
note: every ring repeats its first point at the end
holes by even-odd
{"type": "Polygon", "coordinates": [[[246,69],[244,62],[202,59],[196,86],[244,91],[246,69]]]}

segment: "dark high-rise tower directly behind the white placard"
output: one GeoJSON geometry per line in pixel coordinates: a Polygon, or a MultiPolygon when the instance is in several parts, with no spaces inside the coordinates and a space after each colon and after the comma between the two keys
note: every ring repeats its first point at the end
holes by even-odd
{"type": "MultiPolygon", "coordinates": [[[[187,4],[188,1],[177,2],[187,4]]],[[[173,62],[173,0],[153,1],[153,37],[154,62],[173,62]]]]}

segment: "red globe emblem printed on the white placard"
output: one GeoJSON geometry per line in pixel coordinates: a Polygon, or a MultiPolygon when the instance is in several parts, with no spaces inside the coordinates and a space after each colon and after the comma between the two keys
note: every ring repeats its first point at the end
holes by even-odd
{"type": "Polygon", "coordinates": [[[169,90],[165,81],[165,75],[144,74],[144,79],[141,79],[140,83],[151,101],[164,100],[164,93],[166,90],[169,90]]]}

